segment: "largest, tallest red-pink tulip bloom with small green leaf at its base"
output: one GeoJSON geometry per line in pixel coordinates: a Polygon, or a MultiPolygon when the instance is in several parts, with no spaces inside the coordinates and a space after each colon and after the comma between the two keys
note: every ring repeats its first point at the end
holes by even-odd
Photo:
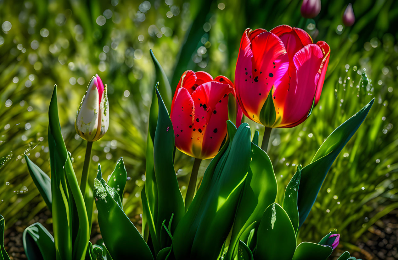
{"type": "Polygon", "coordinates": [[[329,56],[326,42],[299,28],[246,29],[235,70],[243,113],[266,127],[302,123],[319,101],[329,56]]]}

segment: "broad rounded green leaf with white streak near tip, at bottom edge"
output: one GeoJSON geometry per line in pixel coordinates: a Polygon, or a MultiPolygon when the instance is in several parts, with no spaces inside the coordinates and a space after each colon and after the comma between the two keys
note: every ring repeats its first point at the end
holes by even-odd
{"type": "Polygon", "coordinates": [[[256,259],[291,259],[296,248],[296,233],[287,213],[279,204],[264,212],[257,231],[256,259]]]}

